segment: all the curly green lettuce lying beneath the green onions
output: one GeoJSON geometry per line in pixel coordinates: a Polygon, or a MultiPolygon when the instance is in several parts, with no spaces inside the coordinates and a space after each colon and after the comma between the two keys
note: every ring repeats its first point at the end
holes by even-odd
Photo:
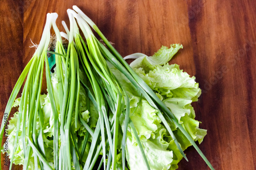
{"type": "MultiPolygon", "coordinates": [[[[143,79],[146,84],[152,88],[152,90],[167,106],[167,108],[172,111],[174,116],[178,119],[179,124],[183,126],[191,138],[201,143],[204,136],[206,135],[206,130],[199,128],[200,122],[195,119],[196,114],[194,108],[191,106],[192,102],[198,101],[198,98],[201,94],[199,84],[196,83],[195,77],[190,77],[186,72],[180,69],[179,65],[168,64],[168,61],[172,59],[172,57],[182,47],[183,46],[180,44],[172,44],[170,48],[162,46],[160,50],[152,57],[140,55],[141,57],[137,58],[131,63],[131,67],[134,69],[136,74],[140,76],[141,79],[143,79]]],[[[126,95],[129,96],[130,118],[135,126],[151,169],[177,169],[178,163],[183,157],[177,148],[174,139],[163,126],[161,119],[157,114],[158,110],[154,109],[146,100],[144,100],[143,96],[141,99],[141,92],[136,89],[135,86],[117,68],[115,68],[109,62],[108,66],[110,67],[115,77],[118,79],[126,95]]],[[[86,79],[82,76],[82,74],[80,75],[81,79],[83,79],[82,81],[86,82],[86,79]]],[[[59,99],[56,74],[52,74],[52,83],[53,91],[55,94],[55,101],[58,103],[57,101],[59,99]]],[[[81,85],[78,111],[81,115],[81,118],[86,123],[88,123],[92,129],[94,129],[98,120],[98,112],[92,102],[88,104],[87,101],[88,96],[86,94],[86,89],[84,89],[84,87],[81,85]]],[[[19,106],[19,102],[20,99],[17,99],[13,107],[19,106]]],[[[44,115],[44,125],[42,127],[44,135],[42,136],[42,139],[44,140],[47,161],[51,166],[53,166],[53,112],[51,109],[49,96],[47,94],[40,95],[40,104],[42,113],[44,115]]],[[[60,108],[58,105],[57,111],[60,115],[60,108]]],[[[8,154],[9,156],[14,154],[13,163],[23,164],[24,153],[22,139],[20,137],[22,134],[22,127],[20,127],[19,131],[17,150],[15,153],[13,152],[13,144],[16,135],[16,125],[18,118],[17,115],[17,113],[14,114],[14,116],[10,119],[10,124],[8,126],[8,154]]],[[[75,114],[72,116],[71,133],[75,137],[74,139],[77,142],[78,149],[81,151],[82,141],[88,132],[79,121],[77,126],[75,126],[74,115],[75,114]]],[[[112,115],[110,115],[110,117],[111,116],[112,115]]],[[[124,119],[125,115],[122,113],[120,116],[121,129],[119,129],[119,142],[117,145],[118,168],[122,167],[122,163],[124,163],[121,159],[121,141],[122,130],[124,130],[124,119]]],[[[168,123],[178,142],[180,143],[181,148],[183,150],[187,149],[191,143],[173,123],[168,123]]],[[[37,120],[37,131],[39,131],[39,120],[37,120]]],[[[83,162],[86,162],[91,141],[92,137],[90,135],[88,144],[86,146],[86,152],[82,157],[83,162]]],[[[140,148],[135,139],[135,134],[132,131],[130,125],[127,129],[125,155],[127,165],[130,169],[146,169],[146,164],[141,155],[140,148]]],[[[38,167],[40,166],[38,165],[38,167]]],[[[33,154],[29,160],[29,169],[34,169],[33,154]]]]}

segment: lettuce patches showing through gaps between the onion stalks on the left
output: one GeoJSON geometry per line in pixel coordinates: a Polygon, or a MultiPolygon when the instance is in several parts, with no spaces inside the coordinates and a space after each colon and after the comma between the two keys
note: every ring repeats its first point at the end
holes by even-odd
{"type": "MultiPolygon", "coordinates": [[[[52,74],[51,76],[52,79],[52,84],[53,84],[53,91],[55,93],[55,101],[58,101],[59,99],[57,98],[58,96],[58,87],[57,87],[57,76],[55,73],[52,74]]],[[[83,87],[80,88],[80,95],[79,95],[79,112],[81,114],[82,119],[86,122],[89,123],[89,125],[91,126],[91,128],[96,127],[96,122],[98,119],[98,113],[95,110],[94,106],[92,104],[90,104],[90,112],[87,108],[87,104],[86,104],[86,92],[84,90],[83,87]]],[[[56,102],[57,104],[58,102],[56,102]]],[[[18,107],[20,104],[20,98],[17,98],[13,104],[13,107],[18,107]]],[[[41,104],[41,109],[42,109],[42,114],[44,117],[44,125],[42,126],[42,130],[43,130],[43,136],[42,139],[44,141],[44,148],[45,148],[45,153],[46,153],[46,158],[47,161],[49,162],[49,164],[53,167],[53,162],[54,162],[54,157],[53,157],[53,112],[52,112],[52,108],[51,108],[51,103],[50,103],[50,99],[49,99],[49,95],[48,94],[41,94],[40,95],[40,104],[41,104]]],[[[59,121],[60,121],[60,110],[59,110],[59,105],[57,106],[57,111],[59,114],[59,121]]],[[[75,115],[75,114],[73,114],[75,115]]],[[[28,117],[28,115],[27,115],[28,117]]],[[[77,127],[75,127],[75,117],[72,117],[72,124],[71,124],[71,133],[75,134],[75,140],[78,143],[78,148],[81,151],[82,149],[82,141],[84,139],[84,137],[86,136],[87,130],[80,124],[80,122],[78,121],[77,127]]],[[[17,142],[17,149],[14,152],[14,140],[15,140],[15,136],[16,136],[16,132],[17,132],[17,120],[18,120],[18,112],[14,113],[13,117],[9,120],[9,125],[8,125],[8,155],[9,158],[12,157],[12,155],[14,154],[14,159],[13,159],[13,163],[14,164],[18,164],[18,165],[23,165],[24,164],[24,150],[23,150],[23,142],[22,142],[22,130],[23,127],[20,126],[19,129],[19,135],[18,135],[18,142],[17,142]]],[[[23,121],[23,120],[22,120],[23,121]]],[[[28,122],[28,120],[27,120],[28,122]]],[[[36,121],[37,124],[37,133],[39,133],[39,119],[37,118],[36,121]]],[[[91,141],[91,139],[89,139],[91,141]]],[[[59,139],[59,145],[60,145],[60,139],[59,139]]],[[[85,162],[87,155],[89,153],[89,149],[90,149],[90,142],[89,144],[87,144],[86,147],[86,152],[83,155],[82,161],[85,162]]],[[[32,152],[31,152],[32,153],[32,152]]],[[[29,160],[29,169],[35,169],[34,167],[34,155],[31,154],[30,156],[30,160],[29,160]]],[[[40,169],[40,166],[38,164],[38,168],[40,169]]]]}

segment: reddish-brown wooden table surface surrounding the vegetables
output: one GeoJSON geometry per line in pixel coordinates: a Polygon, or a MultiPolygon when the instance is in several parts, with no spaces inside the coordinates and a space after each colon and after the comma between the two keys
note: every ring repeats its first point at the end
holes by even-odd
{"type": "MultiPolygon", "coordinates": [[[[161,45],[183,44],[172,63],[195,75],[202,89],[194,104],[196,119],[208,130],[200,149],[216,169],[256,169],[253,0],[1,0],[1,120],[12,88],[34,53],[31,41],[39,43],[46,14],[57,12],[63,30],[61,20],[69,23],[66,10],[72,5],[96,23],[122,56],[150,56],[161,45]]],[[[179,169],[208,169],[194,148],[185,153],[189,162],[182,160],[179,169]]],[[[2,168],[8,166],[2,163],[2,168]]]]}

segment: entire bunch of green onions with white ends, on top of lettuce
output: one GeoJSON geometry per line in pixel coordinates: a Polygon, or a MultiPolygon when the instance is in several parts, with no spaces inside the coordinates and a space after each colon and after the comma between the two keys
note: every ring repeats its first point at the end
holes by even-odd
{"type": "MultiPolygon", "coordinates": [[[[58,15],[56,13],[47,14],[45,29],[37,50],[22,72],[22,75],[20,75],[6,106],[5,113],[8,113],[9,116],[14,100],[27,78],[20,98],[17,132],[14,142],[14,146],[16,146],[19,128],[22,127],[24,169],[28,169],[28,161],[31,153],[33,153],[34,156],[36,169],[53,169],[53,167],[54,169],[126,169],[125,142],[126,131],[129,125],[136,136],[136,141],[147,169],[150,169],[142,144],[129,115],[129,97],[117,78],[112,74],[107,61],[114,65],[131,81],[131,83],[141,92],[141,98],[147,100],[152,107],[158,110],[158,116],[170,136],[175,140],[183,157],[187,160],[174,133],[170,129],[168,122],[174,123],[181,130],[205,160],[207,165],[211,169],[214,169],[197,147],[195,141],[178,123],[178,120],[173,113],[170,112],[154,91],[134,72],[129,64],[123,60],[122,56],[104,37],[95,23],[77,6],[73,6],[73,9],[74,10],[69,9],[67,11],[70,20],[70,29],[68,29],[66,23],[62,21],[66,33],[60,33],[56,26],[58,15]],[[51,28],[53,28],[56,35],[55,52],[48,51],[51,28]],[[95,37],[91,28],[93,28],[93,30],[100,36],[105,43],[104,45],[95,37]],[[79,29],[81,30],[82,35],[80,35],[79,29]],[[68,39],[68,49],[63,47],[61,36],[68,39]],[[82,36],[85,37],[85,40],[82,36]],[[58,96],[53,92],[47,58],[48,53],[55,54],[58,96]],[[41,126],[44,124],[44,117],[42,116],[39,96],[41,93],[44,67],[46,68],[48,94],[54,115],[53,166],[47,161],[45,156],[46,151],[42,140],[44,133],[41,126]],[[82,77],[85,77],[85,79],[82,77]],[[88,95],[87,103],[93,103],[99,114],[95,129],[91,129],[78,112],[80,86],[83,86],[83,88],[86,89],[88,95]],[[121,141],[122,167],[119,167],[116,159],[118,153],[118,137],[120,137],[118,134],[120,128],[119,116],[121,114],[125,115],[125,126],[121,141]],[[75,117],[75,127],[77,126],[77,123],[80,122],[88,132],[82,142],[81,151],[78,149],[76,137],[71,133],[72,116],[75,117]],[[39,119],[40,125],[39,133],[37,133],[36,130],[37,119],[39,119]],[[89,154],[86,162],[83,163],[82,157],[90,137],[92,138],[92,142],[89,154]],[[102,157],[99,160],[99,164],[96,165],[96,161],[98,161],[100,155],[102,155],[102,157]],[[38,167],[38,164],[40,167],[38,167]]],[[[3,133],[4,124],[2,123],[0,142],[3,140],[3,133]]],[[[14,149],[16,149],[16,147],[14,147],[14,149]]],[[[13,153],[15,153],[15,151],[13,153]]],[[[13,156],[10,160],[11,169],[13,156]]]]}

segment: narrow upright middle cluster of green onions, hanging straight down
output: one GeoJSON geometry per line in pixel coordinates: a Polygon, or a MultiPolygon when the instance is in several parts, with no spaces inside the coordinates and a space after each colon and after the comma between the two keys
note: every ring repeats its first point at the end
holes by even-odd
{"type": "MultiPolygon", "coordinates": [[[[60,98],[62,97],[60,99],[60,139],[61,139],[60,153],[61,155],[59,156],[59,166],[58,166],[61,169],[72,169],[73,165],[76,168],[80,167],[77,155],[72,154],[72,153],[75,153],[76,144],[73,138],[71,137],[71,121],[72,121],[73,112],[75,112],[75,126],[77,126],[77,121],[78,121],[78,103],[79,103],[79,91],[80,91],[78,54],[73,41],[74,33],[77,30],[74,30],[74,27],[72,27],[73,22],[74,22],[73,19],[70,17],[71,30],[69,34],[69,45],[68,45],[68,50],[66,54],[66,60],[65,62],[62,62],[65,65],[65,73],[64,73],[65,76],[63,76],[64,71],[61,72],[62,60],[59,59],[58,64],[56,62],[56,69],[57,69],[56,74],[59,75],[58,87],[61,88],[59,89],[59,91],[61,92],[61,94],[59,94],[60,95],[59,97],[60,98]],[[73,164],[71,160],[73,160],[73,164]]],[[[59,34],[59,37],[60,37],[60,34],[59,34]]],[[[60,51],[62,52],[62,54],[65,52],[62,47],[60,48],[60,51]]]]}

